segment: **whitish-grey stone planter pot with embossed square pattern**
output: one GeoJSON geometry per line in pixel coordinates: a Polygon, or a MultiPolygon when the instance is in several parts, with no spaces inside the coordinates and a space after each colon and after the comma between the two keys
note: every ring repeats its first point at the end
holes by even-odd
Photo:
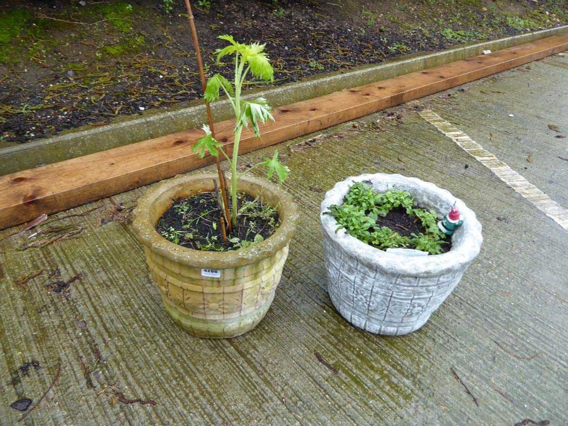
{"type": "Polygon", "coordinates": [[[362,174],[337,183],[321,203],[324,260],[329,296],[336,309],[356,327],[381,335],[404,335],[422,327],[451,291],[481,249],[481,224],[465,203],[430,182],[400,174],[362,174]],[[345,233],[323,214],[343,203],[354,182],[370,181],[380,192],[411,193],[421,206],[438,214],[454,202],[463,225],[452,235],[444,254],[407,257],[376,249],[345,233]]]}

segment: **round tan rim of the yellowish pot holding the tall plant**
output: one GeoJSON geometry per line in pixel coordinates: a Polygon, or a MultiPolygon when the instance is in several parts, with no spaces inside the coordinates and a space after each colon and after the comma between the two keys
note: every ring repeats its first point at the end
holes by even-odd
{"type": "MultiPolygon", "coordinates": [[[[257,194],[278,211],[280,226],[266,240],[251,247],[226,252],[206,252],[182,247],[162,237],[156,231],[156,224],[160,217],[172,205],[174,199],[189,197],[203,190],[212,190],[214,173],[201,173],[180,175],[166,179],[147,194],[140,197],[133,212],[132,228],[139,241],[161,256],[174,262],[195,268],[227,269],[249,265],[285,247],[296,229],[298,219],[298,206],[290,194],[280,187],[256,177],[244,176],[239,179],[239,191],[257,194]],[[207,189],[210,188],[210,189],[207,189]]],[[[228,179],[228,184],[230,179],[228,179]]]]}

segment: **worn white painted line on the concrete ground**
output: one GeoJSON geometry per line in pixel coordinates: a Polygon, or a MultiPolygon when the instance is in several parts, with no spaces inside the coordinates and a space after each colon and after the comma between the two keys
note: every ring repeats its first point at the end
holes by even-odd
{"type": "Polygon", "coordinates": [[[533,203],[538,210],[544,212],[546,216],[568,231],[568,210],[566,210],[566,208],[550,199],[548,195],[531,182],[527,181],[527,179],[515,172],[515,170],[511,169],[492,153],[483,149],[483,147],[471,139],[471,137],[441,118],[436,112],[423,110],[420,111],[419,114],[424,120],[433,124],[440,132],[444,133],[444,135],[448,136],[463,148],[465,152],[474,157],[475,160],[481,162],[481,164],[495,173],[503,182],[517,191],[517,193],[523,195],[524,198],[533,203]]]}

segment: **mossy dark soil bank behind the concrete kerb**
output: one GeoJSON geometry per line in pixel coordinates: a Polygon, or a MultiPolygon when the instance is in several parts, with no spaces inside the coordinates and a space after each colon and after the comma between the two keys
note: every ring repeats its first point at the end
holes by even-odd
{"type": "MultiPolygon", "coordinates": [[[[193,3],[204,51],[223,47],[221,29],[265,40],[274,84],[568,22],[566,0],[193,3]]],[[[185,12],[181,1],[0,2],[0,142],[198,99],[185,12]]],[[[222,69],[233,72],[230,61],[222,69]]]]}

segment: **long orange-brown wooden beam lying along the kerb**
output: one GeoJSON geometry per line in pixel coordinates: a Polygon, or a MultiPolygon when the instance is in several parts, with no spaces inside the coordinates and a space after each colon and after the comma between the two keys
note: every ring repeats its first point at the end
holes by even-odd
{"type": "MultiPolygon", "coordinates": [[[[470,59],[437,66],[275,108],[275,122],[262,127],[262,139],[243,132],[241,152],[268,147],[384,108],[477,80],[568,49],[568,35],[553,36],[470,59]]],[[[232,151],[233,120],[216,123],[216,136],[232,151]]],[[[52,214],[160,179],[197,169],[192,129],[124,147],[48,164],[0,177],[0,229],[52,214]]]]}

